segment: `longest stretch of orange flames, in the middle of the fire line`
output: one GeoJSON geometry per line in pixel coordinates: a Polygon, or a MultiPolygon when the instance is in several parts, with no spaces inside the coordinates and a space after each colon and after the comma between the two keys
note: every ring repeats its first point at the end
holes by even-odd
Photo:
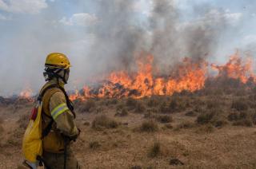
{"type": "Polygon", "coordinates": [[[171,72],[169,76],[154,76],[154,57],[149,55],[143,60],[137,60],[138,71],[127,73],[125,71],[112,72],[106,82],[96,91],[85,86],[83,94],[76,92],[70,100],[86,100],[90,97],[121,98],[132,96],[142,98],[154,95],[172,95],[183,90],[194,92],[204,87],[207,73],[206,61],[194,62],[185,58],[178,66],[178,71],[171,72]]]}

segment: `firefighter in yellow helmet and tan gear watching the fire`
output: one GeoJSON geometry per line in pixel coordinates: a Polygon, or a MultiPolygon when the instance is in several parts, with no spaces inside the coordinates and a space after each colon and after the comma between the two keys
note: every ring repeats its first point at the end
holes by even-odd
{"type": "Polygon", "coordinates": [[[42,96],[42,129],[47,135],[42,140],[42,160],[45,168],[80,168],[70,149],[80,130],[74,123],[73,104],[66,95],[64,85],[70,75],[70,61],[62,53],[50,53],[46,58],[44,77],[49,88],[42,96]]]}

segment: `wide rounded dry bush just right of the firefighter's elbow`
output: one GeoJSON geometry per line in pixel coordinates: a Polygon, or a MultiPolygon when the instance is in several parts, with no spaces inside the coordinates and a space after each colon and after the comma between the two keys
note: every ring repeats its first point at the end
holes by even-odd
{"type": "Polygon", "coordinates": [[[92,128],[96,130],[101,130],[102,128],[118,128],[118,122],[105,115],[96,116],[92,123],[92,128]]]}

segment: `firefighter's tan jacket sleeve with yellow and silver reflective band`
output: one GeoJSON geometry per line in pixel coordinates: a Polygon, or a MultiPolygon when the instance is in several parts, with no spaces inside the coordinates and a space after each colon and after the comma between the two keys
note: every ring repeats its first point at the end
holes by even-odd
{"type": "Polygon", "coordinates": [[[62,92],[55,92],[50,97],[50,115],[57,124],[57,128],[66,136],[78,135],[78,128],[74,123],[74,116],[66,105],[66,98],[62,92]]]}

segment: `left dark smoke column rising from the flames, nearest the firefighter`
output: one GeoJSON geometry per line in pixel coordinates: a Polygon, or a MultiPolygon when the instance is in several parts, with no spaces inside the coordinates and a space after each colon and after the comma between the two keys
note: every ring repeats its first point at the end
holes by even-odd
{"type": "Polygon", "coordinates": [[[134,54],[146,47],[145,30],[136,26],[135,2],[99,2],[99,23],[94,27],[93,33],[96,37],[89,53],[91,65],[96,67],[92,73],[114,69],[129,70],[134,63],[134,54]]]}

